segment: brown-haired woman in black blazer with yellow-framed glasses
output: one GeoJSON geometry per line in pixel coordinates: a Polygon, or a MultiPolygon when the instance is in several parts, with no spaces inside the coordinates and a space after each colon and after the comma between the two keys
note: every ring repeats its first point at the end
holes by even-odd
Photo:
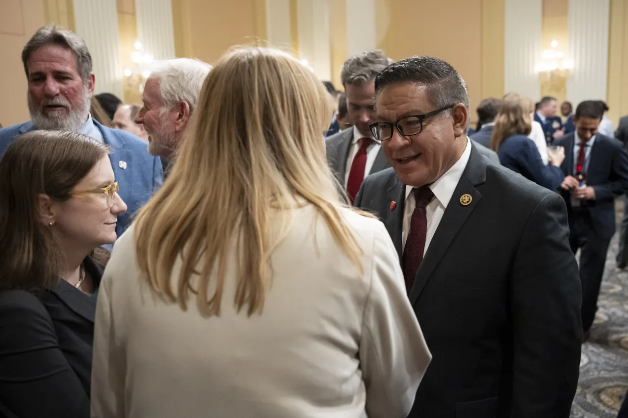
{"type": "Polygon", "coordinates": [[[118,188],[108,147],[75,132],[28,132],[0,161],[0,417],[89,417],[118,188]]]}

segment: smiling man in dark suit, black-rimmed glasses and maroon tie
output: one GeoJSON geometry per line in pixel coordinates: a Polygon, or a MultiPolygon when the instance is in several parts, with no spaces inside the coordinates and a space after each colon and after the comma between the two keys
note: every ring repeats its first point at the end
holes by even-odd
{"type": "Polygon", "coordinates": [[[433,355],[409,417],[569,417],[582,323],[565,203],[480,156],[448,63],[408,58],[375,87],[393,167],[355,205],[386,225],[433,355]]]}

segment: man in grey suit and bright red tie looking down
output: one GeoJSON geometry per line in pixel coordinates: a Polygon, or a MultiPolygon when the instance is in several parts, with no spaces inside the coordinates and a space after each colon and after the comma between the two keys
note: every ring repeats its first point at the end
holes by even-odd
{"type": "Polygon", "coordinates": [[[325,145],[327,161],[351,203],[364,177],[388,166],[381,145],[369,129],[375,114],[375,76],[387,65],[388,58],[382,51],[367,51],[351,56],[340,71],[353,128],[328,137],[325,145]]]}

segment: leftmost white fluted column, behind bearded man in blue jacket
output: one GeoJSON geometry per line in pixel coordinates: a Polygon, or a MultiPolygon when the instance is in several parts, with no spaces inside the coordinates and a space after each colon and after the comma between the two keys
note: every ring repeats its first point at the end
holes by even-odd
{"type": "Polygon", "coordinates": [[[94,63],[95,94],[124,97],[116,0],[73,0],[76,33],[94,63]]]}

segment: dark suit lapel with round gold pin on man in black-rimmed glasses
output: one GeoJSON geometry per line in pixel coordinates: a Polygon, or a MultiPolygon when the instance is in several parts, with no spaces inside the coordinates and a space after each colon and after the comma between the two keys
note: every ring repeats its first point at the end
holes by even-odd
{"type": "Polygon", "coordinates": [[[416,272],[414,284],[409,294],[410,303],[416,303],[421,295],[423,288],[430,280],[434,270],[447,253],[460,228],[467,222],[468,217],[479,205],[482,195],[475,186],[484,183],[486,180],[486,162],[480,153],[475,149],[471,149],[471,155],[467,163],[465,171],[458,181],[458,185],[452,195],[452,200],[447,204],[447,209],[443,214],[443,218],[436,228],[436,232],[431,239],[425,257],[416,272]],[[470,195],[471,203],[462,205],[460,197],[462,195],[470,195]]]}

